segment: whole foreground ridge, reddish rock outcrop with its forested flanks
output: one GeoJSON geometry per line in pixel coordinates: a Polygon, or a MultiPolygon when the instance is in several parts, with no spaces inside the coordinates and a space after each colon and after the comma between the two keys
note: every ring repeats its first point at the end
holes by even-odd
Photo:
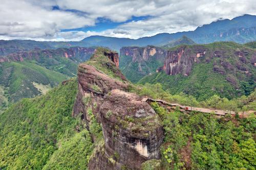
{"type": "Polygon", "coordinates": [[[145,94],[175,96],[159,84],[134,86],[117,67],[117,53],[99,49],[79,65],[78,81],[0,114],[0,168],[254,169],[254,114],[216,117],[147,103],[145,94]]]}

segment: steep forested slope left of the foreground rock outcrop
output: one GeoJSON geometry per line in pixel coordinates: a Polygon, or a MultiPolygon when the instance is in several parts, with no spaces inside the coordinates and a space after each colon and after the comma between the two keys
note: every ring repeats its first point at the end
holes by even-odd
{"type": "MultiPolygon", "coordinates": [[[[59,160],[55,169],[61,169],[61,161],[62,165],[72,163],[75,169],[86,168],[92,143],[86,137],[87,131],[75,132],[75,127],[80,125],[80,120],[71,116],[76,92],[77,81],[71,80],[46,95],[23,99],[2,113],[0,168],[42,169],[49,160],[51,163],[62,154],[70,156],[59,160]]],[[[47,164],[45,169],[51,166],[47,164]]]]}

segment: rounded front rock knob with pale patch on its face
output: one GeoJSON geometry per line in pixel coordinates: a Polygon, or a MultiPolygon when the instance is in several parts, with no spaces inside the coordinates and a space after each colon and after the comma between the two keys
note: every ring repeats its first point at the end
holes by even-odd
{"type": "Polygon", "coordinates": [[[140,169],[148,159],[160,158],[163,129],[160,118],[146,102],[137,95],[118,89],[104,96],[100,107],[104,135],[104,157],[110,161],[100,162],[92,158],[90,169],[140,169]],[[114,161],[111,161],[113,159],[114,161]]]}

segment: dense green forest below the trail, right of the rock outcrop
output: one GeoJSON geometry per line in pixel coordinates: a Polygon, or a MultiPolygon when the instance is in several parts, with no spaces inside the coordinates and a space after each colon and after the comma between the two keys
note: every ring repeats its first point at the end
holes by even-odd
{"type": "Polygon", "coordinates": [[[152,106],[165,130],[161,150],[165,169],[255,169],[255,115],[217,118],[152,106]]]}

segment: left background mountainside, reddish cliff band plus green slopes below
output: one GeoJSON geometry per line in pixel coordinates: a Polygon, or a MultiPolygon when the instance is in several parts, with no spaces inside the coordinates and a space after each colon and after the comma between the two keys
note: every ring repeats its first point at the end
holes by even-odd
{"type": "Polygon", "coordinates": [[[77,65],[90,59],[95,48],[21,51],[0,56],[0,110],[22,98],[34,98],[76,76],[77,65]]]}

